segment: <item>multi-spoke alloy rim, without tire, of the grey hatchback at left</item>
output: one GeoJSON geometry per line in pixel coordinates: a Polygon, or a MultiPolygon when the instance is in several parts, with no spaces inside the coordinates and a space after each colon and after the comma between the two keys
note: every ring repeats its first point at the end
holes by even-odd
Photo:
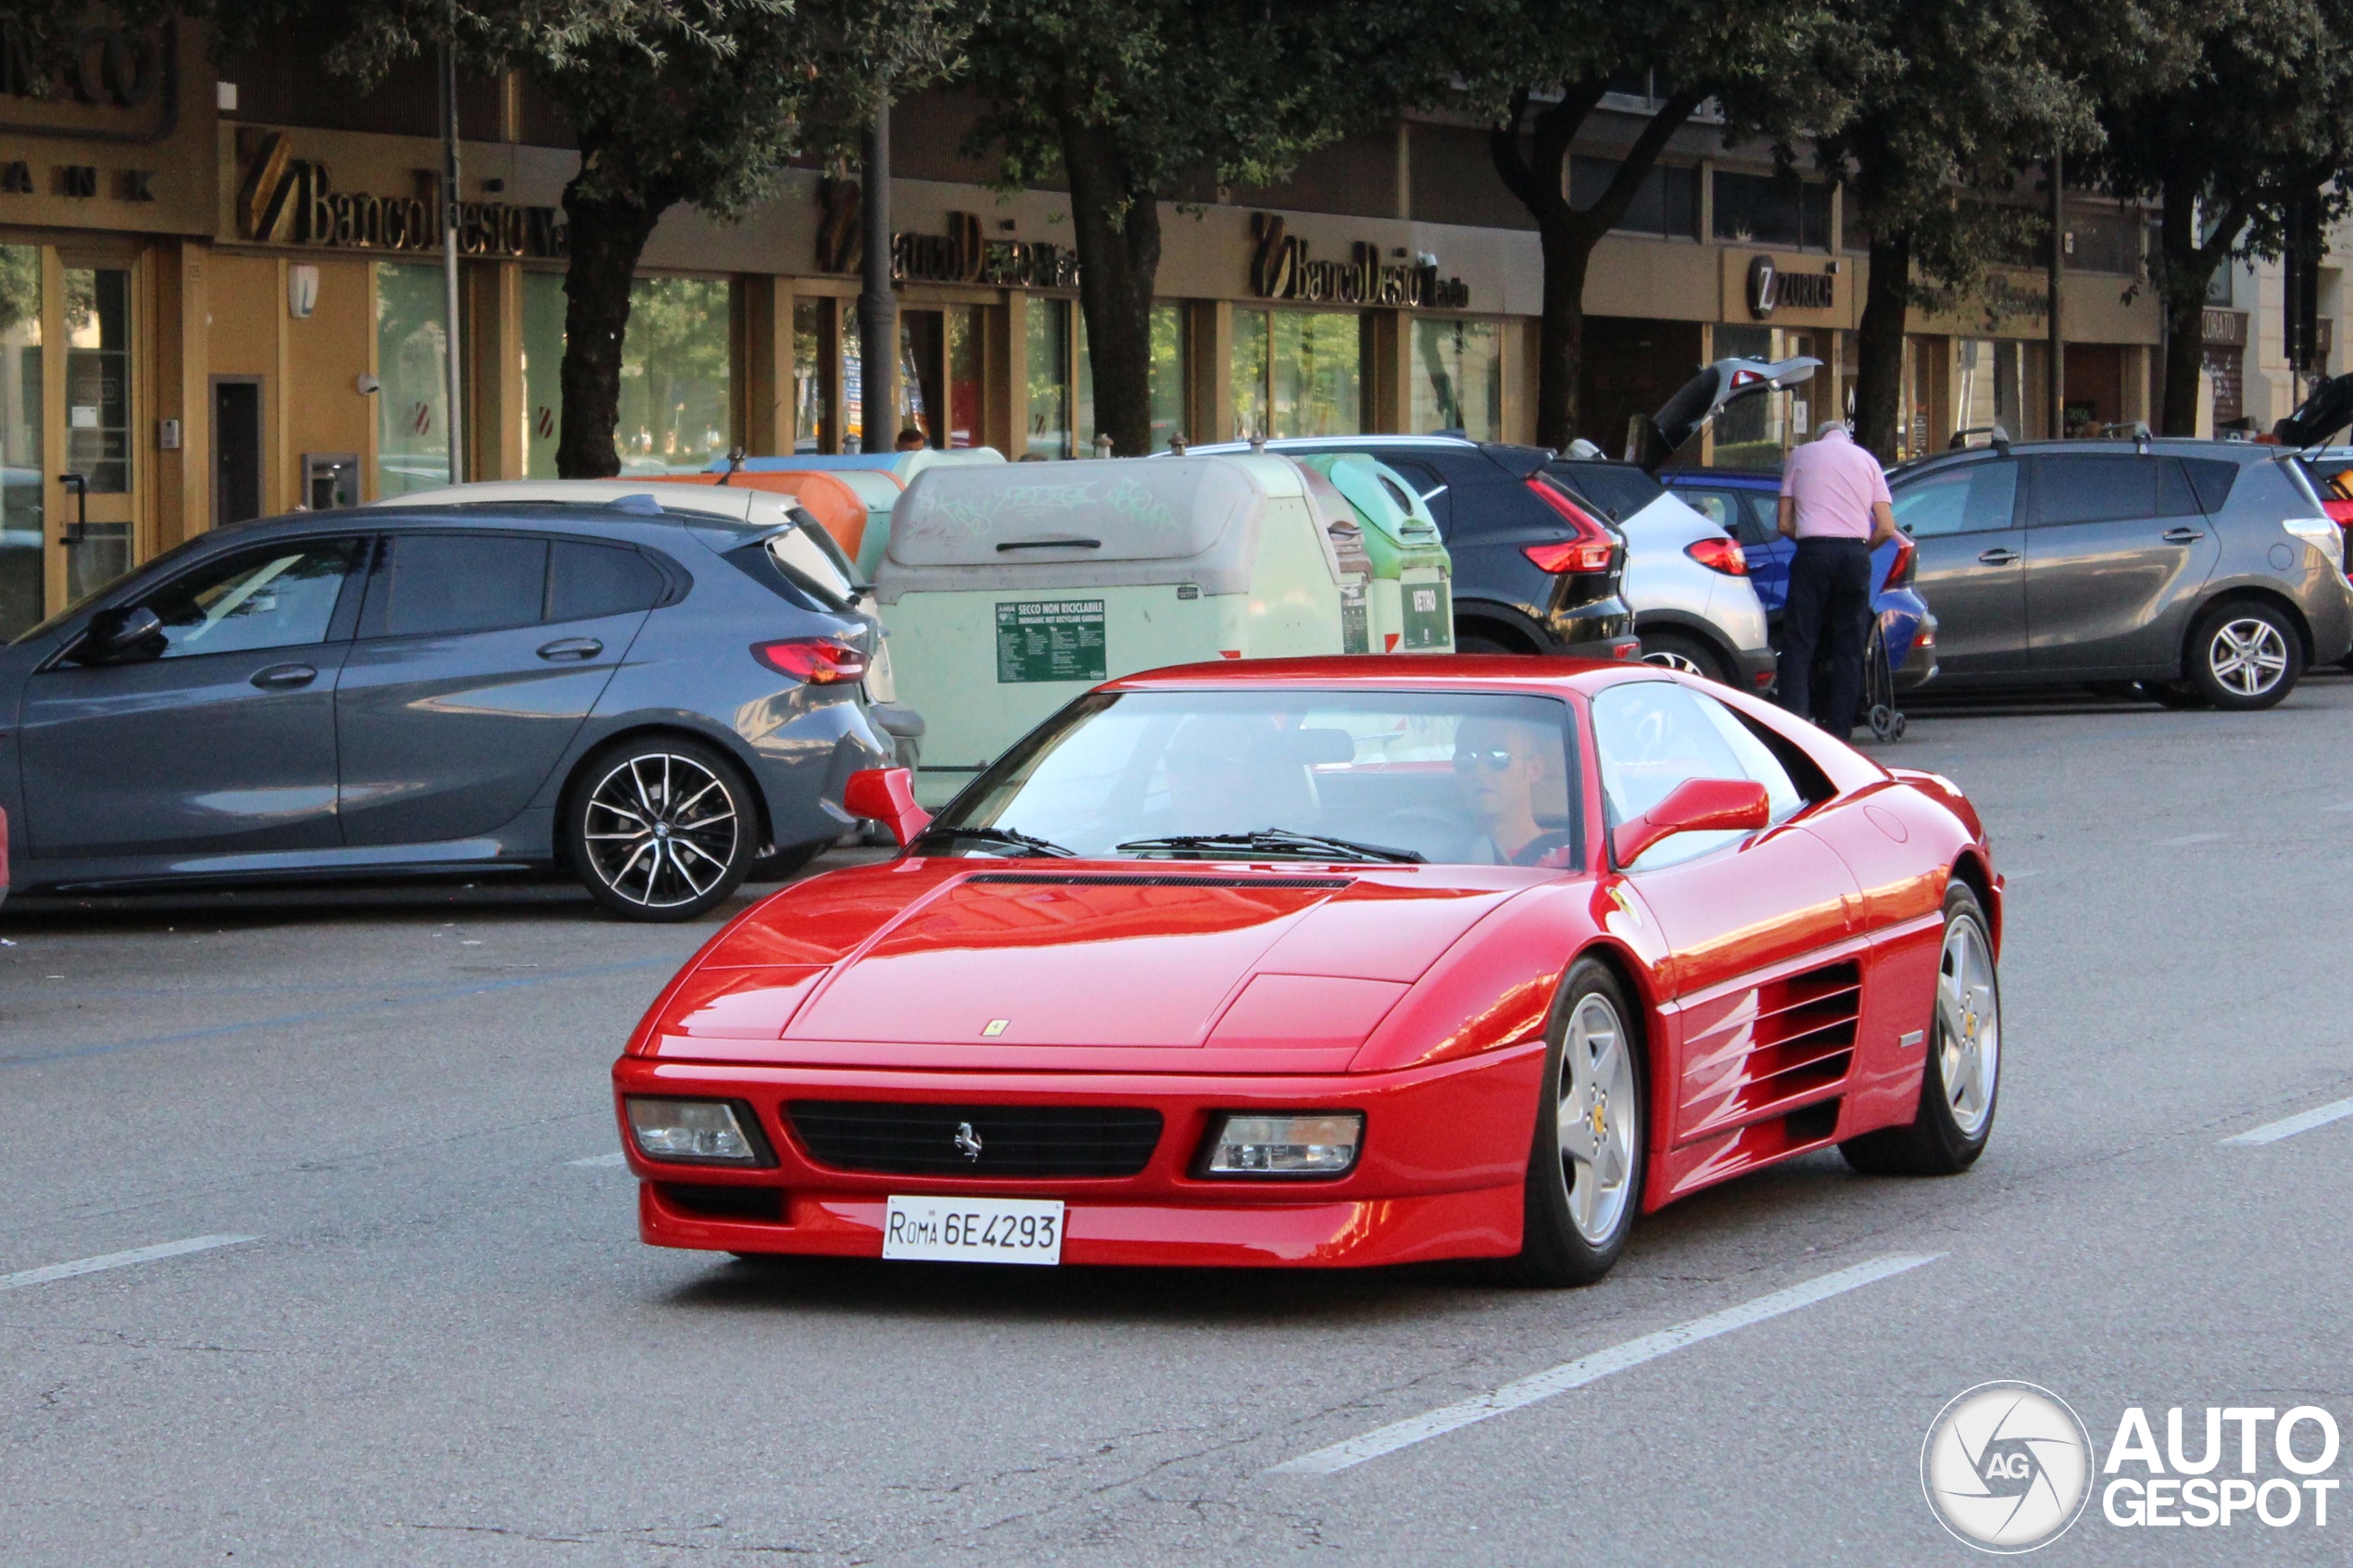
{"type": "Polygon", "coordinates": [[[595,879],[642,910],[675,910],[718,886],[741,835],[727,785],[678,752],[640,752],[605,773],[584,827],[595,879]]]}

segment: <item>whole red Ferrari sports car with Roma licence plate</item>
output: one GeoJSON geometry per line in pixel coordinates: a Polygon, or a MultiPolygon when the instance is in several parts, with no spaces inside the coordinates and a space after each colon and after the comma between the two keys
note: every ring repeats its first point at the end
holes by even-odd
{"type": "Polygon", "coordinates": [[[1741,1171],[1993,1128],[1977,811],[1654,665],[1155,670],[849,809],[906,853],[748,910],[614,1067],[656,1246],[1562,1286],[1741,1171]]]}

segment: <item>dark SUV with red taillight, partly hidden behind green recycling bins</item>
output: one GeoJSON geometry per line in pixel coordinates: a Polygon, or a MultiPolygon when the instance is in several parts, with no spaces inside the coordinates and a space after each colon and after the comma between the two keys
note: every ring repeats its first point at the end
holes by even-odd
{"type": "Polygon", "coordinates": [[[1640,658],[1621,595],[1626,541],[1544,473],[1553,461],[1544,447],[1452,435],[1304,435],[1266,442],[1266,451],[1362,451],[1421,491],[1454,557],[1457,651],[1640,658]]]}

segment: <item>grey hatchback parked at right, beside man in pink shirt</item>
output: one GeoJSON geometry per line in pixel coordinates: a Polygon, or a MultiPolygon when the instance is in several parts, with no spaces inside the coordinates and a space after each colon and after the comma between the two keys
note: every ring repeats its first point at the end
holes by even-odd
{"type": "Polygon", "coordinates": [[[2271,708],[2353,646],[2344,538],[2280,447],[1998,440],[1887,487],[1941,628],[1939,689],[2139,682],[2271,708]]]}

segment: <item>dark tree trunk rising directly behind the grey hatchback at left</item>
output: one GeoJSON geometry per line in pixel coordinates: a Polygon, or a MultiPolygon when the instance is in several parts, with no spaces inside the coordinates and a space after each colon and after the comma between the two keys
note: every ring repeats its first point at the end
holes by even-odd
{"type": "Polygon", "coordinates": [[[609,480],[621,473],[612,433],[621,421],[621,339],[628,334],[628,284],[661,207],[633,197],[591,197],[574,176],[565,186],[569,261],[565,263],[562,428],[555,473],[609,480]]]}

